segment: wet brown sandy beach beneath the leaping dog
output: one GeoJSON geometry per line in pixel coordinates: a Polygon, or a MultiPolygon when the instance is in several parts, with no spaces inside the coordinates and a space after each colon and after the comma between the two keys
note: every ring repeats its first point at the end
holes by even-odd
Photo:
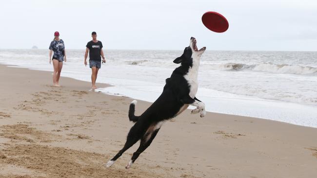
{"type": "MultiPolygon", "coordinates": [[[[110,167],[133,125],[133,100],[52,72],[0,65],[0,178],[314,178],[317,128],[186,110],[110,167]]],[[[98,81],[98,79],[97,79],[98,81]]],[[[98,84],[98,87],[106,87],[98,84]]],[[[138,101],[136,115],[151,103],[138,101]]]]}

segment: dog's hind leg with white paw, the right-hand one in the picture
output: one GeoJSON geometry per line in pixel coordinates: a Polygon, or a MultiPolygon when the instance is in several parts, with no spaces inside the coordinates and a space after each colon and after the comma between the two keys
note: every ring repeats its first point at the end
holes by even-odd
{"type": "Polygon", "coordinates": [[[140,146],[136,152],[133,153],[133,156],[129,163],[125,166],[126,169],[129,169],[131,165],[136,161],[139,157],[139,155],[150,146],[156,135],[158,134],[158,130],[160,128],[157,128],[156,130],[152,130],[151,132],[147,132],[143,138],[141,139],[140,146]]]}

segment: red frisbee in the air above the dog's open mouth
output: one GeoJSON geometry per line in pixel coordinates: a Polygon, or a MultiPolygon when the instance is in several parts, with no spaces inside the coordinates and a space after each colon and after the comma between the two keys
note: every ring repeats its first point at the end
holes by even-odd
{"type": "Polygon", "coordinates": [[[201,17],[202,23],[211,31],[222,33],[228,30],[228,20],[217,12],[206,12],[201,17]]]}

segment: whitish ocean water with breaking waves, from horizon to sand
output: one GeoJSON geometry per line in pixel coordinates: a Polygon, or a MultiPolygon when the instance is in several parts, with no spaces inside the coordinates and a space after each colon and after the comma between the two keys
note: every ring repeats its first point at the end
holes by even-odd
{"type": "MultiPolygon", "coordinates": [[[[104,53],[97,82],[113,87],[97,91],[154,102],[182,51],[104,53]]],[[[61,75],[90,81],[83,59],[84,50],[67,50],[61,75]]],[[[48,50],[0,50],[0,63],[53,71],[48,50]]],[[[197,98],[207,111],[317,127],[317,52],[206,51],[198,83],[197,98]]]]}

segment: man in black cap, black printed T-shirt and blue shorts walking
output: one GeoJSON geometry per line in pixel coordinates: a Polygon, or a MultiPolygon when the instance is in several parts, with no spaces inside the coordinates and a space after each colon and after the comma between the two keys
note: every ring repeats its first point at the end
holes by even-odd
{"type": "Polygon", "coordinates": [[[103,51],[102,51],[102,43],[97,40],[97,33],[91,33],[91,37],[93,40],[89,41],[86,45],[86,53],[85,53],[85,66],[87,66],[87,56],[89,51],[89,67],[91,68],[91,84],[92,89],[97,89],[96,87],[96,79],[99,69],[101,68],[101,57],[102,63],[106,62],[103,51]],[[101,55],[101,57],[100,57],[101,55]]]}

